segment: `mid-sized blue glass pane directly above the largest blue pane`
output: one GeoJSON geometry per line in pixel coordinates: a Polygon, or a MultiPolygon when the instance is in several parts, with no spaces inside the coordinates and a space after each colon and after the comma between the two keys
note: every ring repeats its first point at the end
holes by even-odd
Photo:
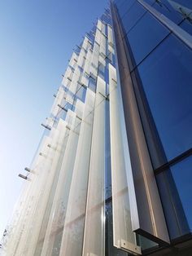
{"type": "Polygon", "coordinates": [[[145,58],[168,33],[168,29],[151,14],[146,13],[125,37],[136,64],[145,58]]]}

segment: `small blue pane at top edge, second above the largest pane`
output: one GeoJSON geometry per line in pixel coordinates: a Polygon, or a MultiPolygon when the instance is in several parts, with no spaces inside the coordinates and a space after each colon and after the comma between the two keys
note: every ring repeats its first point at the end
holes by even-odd
{"type": "Polygon", "coordinates": [[[126,12],[124,18],[121,20],[124,33],[128,33],[133,25],[136,24],[137,20],[139,20],[145,12],[146,9],[142,7],[142,5],[138,2],[135,2],[129,11],[126,12]]]}

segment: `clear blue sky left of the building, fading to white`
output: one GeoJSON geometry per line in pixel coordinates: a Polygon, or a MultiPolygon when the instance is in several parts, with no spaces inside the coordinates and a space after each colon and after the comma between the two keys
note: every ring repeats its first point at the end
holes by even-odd
{"type": "Polygon", "coordinates": [[[72,48],[107,0],[0,2],[0,239],[72,48]]]}

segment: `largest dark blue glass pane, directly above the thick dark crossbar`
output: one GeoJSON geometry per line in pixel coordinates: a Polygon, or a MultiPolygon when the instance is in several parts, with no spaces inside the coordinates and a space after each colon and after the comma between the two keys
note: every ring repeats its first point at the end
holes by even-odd
{"type": "Polygon", "coordinates": [[[192,146],[191,67],[192,51],[174,36],[138,67],[168,161],[192,146]]]}

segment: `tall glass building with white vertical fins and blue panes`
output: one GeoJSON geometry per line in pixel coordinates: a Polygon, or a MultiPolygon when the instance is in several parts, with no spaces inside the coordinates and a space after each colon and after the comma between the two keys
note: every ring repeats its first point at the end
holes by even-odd
{"type": "Polygon", "coordinates": [[[110,9],[72,53],[2,255],[192,255],[192,2],[110,9]]]}

